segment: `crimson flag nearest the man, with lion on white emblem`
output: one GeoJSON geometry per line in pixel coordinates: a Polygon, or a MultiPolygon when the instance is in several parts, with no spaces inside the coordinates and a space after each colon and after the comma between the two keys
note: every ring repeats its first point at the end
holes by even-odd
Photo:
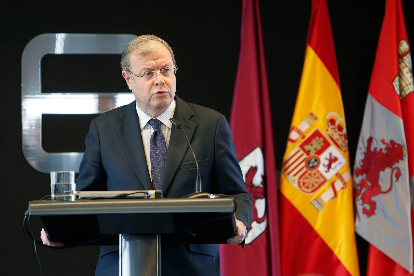
{"type": "Polygon", "coordinates": [[[258,0],[243,0],[230,128],[253,198],[253,220],[244,249],[220,245],[221,275],[279,276],[276,167],[258,0]]]}

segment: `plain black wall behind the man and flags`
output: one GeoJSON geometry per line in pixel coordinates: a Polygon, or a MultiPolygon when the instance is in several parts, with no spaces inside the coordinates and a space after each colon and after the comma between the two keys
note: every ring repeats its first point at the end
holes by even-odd
{"type": "MultiPolygon", "coordinates": [[[[277,169],[284,155],[301,77],[310,3],[260,3],[277,169]]],[[[402,4],[409,41],[413,43],[413,2],[402,0],[402,4]]],[[[384,6],[384,0],[328,0],[351,164],[384,6]]],[[[33,169],[22,154],[21,56],[25,45],[43,33],[157,34],[175,51],[177,94],[187,102],[216,109],[229,119],[240,47],[241,1],[3,3],[0,23],[0,275],[40,275],[33,242],[24,232],[22,220],[28,201],[50,193],[50,179],[48,174],[33,169]]],[[[127,91],[118,61],[118,57],[102,61],[94,57],[45,58],[43,92],[65,88],[66,92],[99,92],[108,87],[127,91]]],[[[50,152],[83,151],[90,119],[45,117],[43,147],[50,152]],[[55,133],[60,131],[64,135],[57,140],[55,133]]],[[[33,224],[39,237],[40,226],[36,220],[33,224]]],[[[358,245],[364,275],[366,243],[358,238],[358,245]]],[[[45,276],[93,275],[98,258],[96,247],[64,251],[38,247],[38,253],[45,276]]]]}

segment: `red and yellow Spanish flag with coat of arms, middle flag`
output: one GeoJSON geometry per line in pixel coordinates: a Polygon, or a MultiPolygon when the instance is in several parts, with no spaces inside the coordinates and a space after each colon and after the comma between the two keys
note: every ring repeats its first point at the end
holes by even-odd
{"type": "Polygon", "coordinates": [[[280,179],[282,275],[358,276],[347,128],[326,0],[313,0],[280,179]]]}

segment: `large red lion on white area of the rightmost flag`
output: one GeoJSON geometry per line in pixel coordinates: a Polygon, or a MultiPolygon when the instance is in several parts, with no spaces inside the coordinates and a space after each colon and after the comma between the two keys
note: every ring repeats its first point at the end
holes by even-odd
{"type": "Polygon", "coordinates": [[[355,177],[359,177],[361,174],[365,174],[365,179],[361,179],[359,187],[354,189],[354,197],[358,197],[362,190],[365,189],[362,193],[361,199],[362,204],[368,204],[369,209],[365,206],[362,209],[362,213],[367,217],[375,214],[375,209],[377,208],[376,201],[372,200],[373,196],[378,196],[379,194],[387,194],[392,189],[392,176],[395,174],[395,181],[397,182],[401,176],[401,170],[399,167],[392,166],[398,163],[400,160],[404,160],[405,149],[402,145],[395,143],[394,140],[390,140],[390,143],[386,143],[384,139],[381,140],[381,143],[385,145],[384,149],[373,148],[371,150],[372,136],[370,136],[366,141],[366,152],[365,156],[361,160],[362,166],[355,168],[355,177]],[[381,190],[381,186],[378,183],[380,177],[380,172],[384,171],[386,168],[392,168],[391,170],[391,179],[390,187],[386,191],[381,190]]]}

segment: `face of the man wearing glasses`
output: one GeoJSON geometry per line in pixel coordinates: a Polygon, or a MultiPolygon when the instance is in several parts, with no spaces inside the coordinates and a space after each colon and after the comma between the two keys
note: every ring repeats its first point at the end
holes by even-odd
{"type": "MultiPolygon", "coordinates": [[[[149,71],[159,73],[164,68],[174,68],[173,60],[168,49],[157,44],[154,51],[141,56],[135,52],[130,56],[131,71],[135,75],[142,75],[149,71]]],[[[157,117],[163,113],[174,99],[176,94],[176,76],[162,77],[156,74],[154,80],[145,80],[144,77],[129,76],[128,72],[122,71],[128,87],[132,90],[138,107],[146,114],[157,117]]]]}

